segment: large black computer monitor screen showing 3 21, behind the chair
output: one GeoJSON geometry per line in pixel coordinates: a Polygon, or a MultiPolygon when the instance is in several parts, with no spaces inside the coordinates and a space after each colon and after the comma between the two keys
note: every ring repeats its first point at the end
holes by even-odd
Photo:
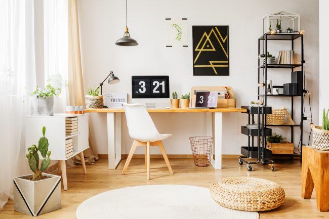
{"type": "Polygon", "coordinates": [[[169,76],[132,76],[133,98],[169,98],[169,76]]]}

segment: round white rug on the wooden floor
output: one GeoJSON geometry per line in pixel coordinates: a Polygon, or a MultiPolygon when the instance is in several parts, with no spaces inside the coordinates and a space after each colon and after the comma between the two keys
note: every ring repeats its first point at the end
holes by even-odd
{"type": "Polygon", "coordinates": [[[216,204],[208,188],[184,185],[136,186],[98,194],[76,209],[78,219],[258,219],[258,212],[216,204]]]}

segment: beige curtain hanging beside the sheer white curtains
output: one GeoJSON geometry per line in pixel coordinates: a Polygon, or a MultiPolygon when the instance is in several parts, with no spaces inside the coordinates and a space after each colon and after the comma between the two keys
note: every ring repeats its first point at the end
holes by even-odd
{"type": "MultiPolygon", "coordinates": [[[[68,93],[70,105],[85,105],[77,0],[68,0],[68,93]]],[[[84,151],[85,161],[88,164],[93,164],[95,160],[98,160],[98,155],[95,151],[90,128],[89,146],[90,148],[84,151]]],[[[79,163],[79,156],[75,156],[74,160],[75,163],[79,163]]]]}

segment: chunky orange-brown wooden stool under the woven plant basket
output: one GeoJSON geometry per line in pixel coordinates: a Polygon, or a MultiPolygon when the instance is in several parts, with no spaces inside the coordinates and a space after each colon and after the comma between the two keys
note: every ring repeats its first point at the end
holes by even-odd
{"type": "Polygon", "coordinates": [[[316,206],[320,211],[329,207],[329,151],[303,146],[302,198],[310,199],[315,186],[316,206]]]}

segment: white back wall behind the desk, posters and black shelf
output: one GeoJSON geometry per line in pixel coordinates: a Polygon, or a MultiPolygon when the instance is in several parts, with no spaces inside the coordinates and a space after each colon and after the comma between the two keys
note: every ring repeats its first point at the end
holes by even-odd
{"type": "MultiPolygon", "coordinates": [[[[294,1],[128,1],[128,26],[137,47],[119,47],[114,43],[125,27],[125,1],[80,0],[79,22],[85,90],[97,86],[109,71],[121,79],[115,85],[106,84],[111,92],[131,94],[132,75],[169,75],[170,89],[187,93],[193,85],[231,85],[237,107],[257,100],[257,39],[262,34],[262,18],[267,13],[292,11],[301,15],[301,28],[306,30],[304,51],[306,86],[312,92],[315,122],[318,119],[318,2],[294,1]],[[188,18],[188,48],[166,48],[165,18],[188,18]],[[230,76],[192,76],[192,25],[229,25],[230,76]]],[[[296,46],[295,46],[296,47],[296,46]]],[[[288,46],[270,46],[276,50],[288,46]]],[[[290,82],[289,70],[269,72],[273,84],[290,82]]],[[[298,100],[298,98],[296,98],[298,100]]],[[[269,100],[277,108],[289,107],[289,98],[269,100]]],[[[299,102],[299,101],[296,101],[299,102]]],[[[308,104],[306,102],[305,104],[308,104]]],[[[307,106],[307,105],[306,105],[307,106]]],[[[295,113],[300,103],[295,104],[295,113]]],[[[309,116],[307,108],[305,112],[309,116]]],[[[190,154],[188,137],[204,136],[204,114],[156,114],[152,118],[162,133],[172,133],[166,140],[168,154],[190,154]]],[[[240,134],[240,126],[248,117],[242,113],[224,114],[223,154],[239,154],[247,138],[240,134]]],[[[107,153],[106,115],[92,114],[92,134],[98,153],[107,153]]],[[[299,120],[296,120],[299,122],[299,120]]],[[[304,122],[304,143],[308,141],[309,122],[304,122]]],[[[287,128],[276,130],[286,136],[287,128]]],[[[298,138],[297,130],[295,139],[298,138]]],[[[127,133],[126,119],[122,118],[122,153],[128,153],[132,140],[127,133]]],[[[295,142],[296,145],[298,142],[295,142]]],[[[144,150],[138,151],[144,153],[144,150]]]]}

